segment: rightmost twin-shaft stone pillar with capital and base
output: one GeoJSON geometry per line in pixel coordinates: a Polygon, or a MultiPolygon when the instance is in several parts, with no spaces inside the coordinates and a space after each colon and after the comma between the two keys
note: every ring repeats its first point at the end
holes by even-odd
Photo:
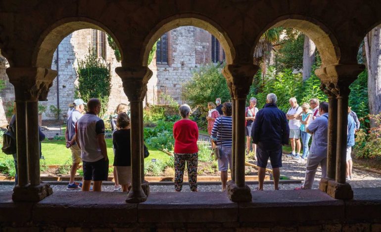
{"type": "Polygon", "coordinates": [[[319,189],[336,199],[353,198],[352,188],[345,182],[348,96],[349,85],[364,68],[364,65],[340,64],[327,66],[316,71],[322,80],[321,88],[329,95],[330,101],[327,178],[322,179],[319,189]],[[333,147],[334,144],[335,147],[333,147]],[[333,163],[335,163],[335,168],[333,163]]]}

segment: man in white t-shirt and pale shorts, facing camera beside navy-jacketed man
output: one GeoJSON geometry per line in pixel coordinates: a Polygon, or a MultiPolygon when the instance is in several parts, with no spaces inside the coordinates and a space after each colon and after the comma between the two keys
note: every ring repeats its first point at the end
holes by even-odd
{"type": "Polygon", "coordinates": [[[287,111],[286,118],[288,121],[288,127],[290,128],[290,143],[292,152],[288,154],[288,157],[300,158],[300,120],[295,119],[302,112],[302,108],[297,104],[296,98],[291,97],[289,100],[291,108],[287,111]],[[295,153],[295,143],[297,148],[297,153],[295,153]]]}

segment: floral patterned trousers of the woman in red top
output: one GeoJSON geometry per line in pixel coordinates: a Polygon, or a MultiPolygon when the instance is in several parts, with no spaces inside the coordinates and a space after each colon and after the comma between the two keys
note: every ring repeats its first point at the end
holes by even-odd
{"type": "Polygon", "coordinates": [[[175,190],[181,191],[183,189],[185,162],[187,162],[189,187],[191,191],[197,191],[198,153],[175,153],[175,190]]]}

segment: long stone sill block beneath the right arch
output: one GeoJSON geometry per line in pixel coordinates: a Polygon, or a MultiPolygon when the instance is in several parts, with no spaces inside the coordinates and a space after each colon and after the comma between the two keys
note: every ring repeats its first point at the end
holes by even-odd
{"type": "Polygon", "coordinates": [[[254,191],[251,194],[251,202],[239,203],[240,222],[312,222],[344,218],[344,203],[320,190],[254,191]],[[314,213],[307,213],[306,208],[313,208],[314,213]]]}

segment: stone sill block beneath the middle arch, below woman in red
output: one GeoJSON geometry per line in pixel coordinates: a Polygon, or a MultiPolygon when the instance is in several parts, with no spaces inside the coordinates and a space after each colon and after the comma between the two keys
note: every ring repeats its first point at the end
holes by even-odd
{"type": "Polygon", "coordinates": [[[151,193],[138,214],[140,223],[237,222],[238,204],[226,193],[151,193]]]}

